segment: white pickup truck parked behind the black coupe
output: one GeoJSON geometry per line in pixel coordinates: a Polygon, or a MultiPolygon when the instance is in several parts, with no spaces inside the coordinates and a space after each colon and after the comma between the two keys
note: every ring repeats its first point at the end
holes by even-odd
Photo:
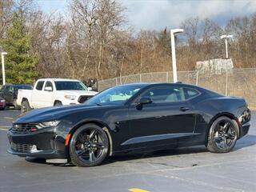
{"type": "Polygon", "coordinates": [[[72,105],[85,102],[97,92],[90,91],[80,81],[64,78],[42,78],[33,90],[18,90],[17,104],[22,113],[47,106],[72,105]]]}

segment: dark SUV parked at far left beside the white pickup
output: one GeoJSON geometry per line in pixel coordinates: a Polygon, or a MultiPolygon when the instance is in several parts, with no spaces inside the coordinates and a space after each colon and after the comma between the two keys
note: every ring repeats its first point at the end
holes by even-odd
{"type": "Polygon", "coordinates": [[[5,85],[0,90],[0,96],[6,100],[6,106],[14,106],[19,109],[17,104],[18,90],[32,90],[33,86],[30,85],[5,85]]]}

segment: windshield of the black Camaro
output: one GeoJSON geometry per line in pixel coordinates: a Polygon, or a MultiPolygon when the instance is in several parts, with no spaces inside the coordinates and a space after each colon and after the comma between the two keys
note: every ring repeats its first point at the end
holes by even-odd
{"type": "Polygon", "coordinates": [[[119,105],[124,104],[129,98],[142,89],[144,85],[132,85],[132,86],[116,86],[108,90],[102,91],[90,98],[86,104],[97,105],[119,105]]]}

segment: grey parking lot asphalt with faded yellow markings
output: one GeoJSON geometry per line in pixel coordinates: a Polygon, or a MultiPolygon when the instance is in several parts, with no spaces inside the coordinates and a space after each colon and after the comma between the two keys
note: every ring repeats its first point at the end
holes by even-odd
{"type": "Polygon", "coordinates": [[[204,146],[107,158],[102,166],[48,164],[8,154],[6,130],[18,117],[0,111],[0,192],[6,191],[256,191],[256,112],[249,134],[228,154],[204,146]]]}

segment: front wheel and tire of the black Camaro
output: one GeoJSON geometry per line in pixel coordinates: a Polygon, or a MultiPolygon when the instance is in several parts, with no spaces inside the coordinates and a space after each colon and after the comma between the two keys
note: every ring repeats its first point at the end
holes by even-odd
{"type": "Polygon", "coordinates": [[[70,141],[70,162],[75,166],[98,166],[106,158],[109,140],[104,130],[86,124],[76,130],[70,141]]]}

